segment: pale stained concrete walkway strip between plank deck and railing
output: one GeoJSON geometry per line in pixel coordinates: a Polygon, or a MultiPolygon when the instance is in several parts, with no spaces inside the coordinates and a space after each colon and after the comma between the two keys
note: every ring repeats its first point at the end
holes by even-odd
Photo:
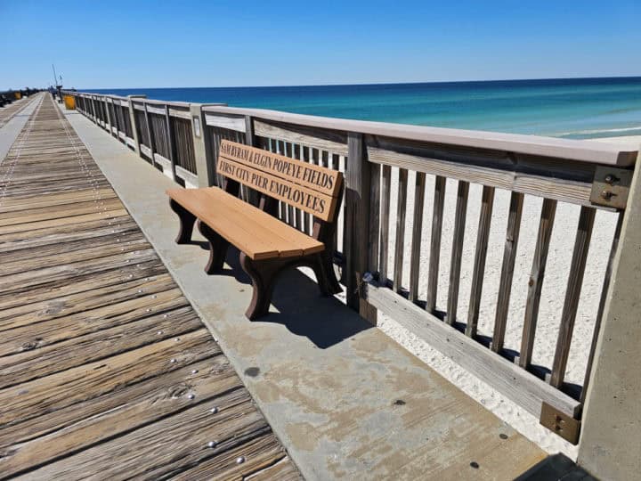
{"type": "Polygon", "coordinates": [[[545,453],[298,271],[272,311],[243,315],[251,286],[230,250],[178,246],[174,184],[77,112],[67,117],[239,372],[307,479],[513,479],[545,453]]]}

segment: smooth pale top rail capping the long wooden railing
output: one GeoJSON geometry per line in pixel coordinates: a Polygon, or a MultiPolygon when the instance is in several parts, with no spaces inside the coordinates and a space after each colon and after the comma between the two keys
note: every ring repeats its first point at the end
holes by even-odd
{"type": "MultiPolygon", "coordinates": [[[[66,91],[65,91],[66,92],[66,91]]],[[[71,94],[86,94],[70,92],[71,94]]],[[[95,95],[95,94],[93,94],[95,95]]],[[[114,99],[124,99],[118,95],[103,95],[114,99]]],[[[247,109],[226,107],[213,104],[190,102],[166,102],[151,99],[136,99],[136,102],[147,102],[162,105],[189,107],[200,105],[205,112],[231,116],[252,116],[286,124],[313,128],[357,132],[365,135],[380,135],[423,143],[435,143],[483,151],[507,151],[515,154],[540,157],[569,159],[580,162],[629,167],[635,164],[639,148],[634,143],[608,143],[591,140],[559,139],[540,135],[504,134],[481,130],[463,130],[433,126],[412,126],[352,120],[347,118],[329,118],[283,112],[280,110],[247,109]]]]}

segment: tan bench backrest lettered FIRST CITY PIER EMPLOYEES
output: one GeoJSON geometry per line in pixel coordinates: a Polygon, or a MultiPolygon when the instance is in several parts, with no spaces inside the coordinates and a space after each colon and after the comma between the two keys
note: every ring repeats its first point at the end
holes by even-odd
{"type": "Polygon", "coordinates": [[[223,140],[217,173],[319,219],[336,220],[343,192],[337,170],[223,140]]]}

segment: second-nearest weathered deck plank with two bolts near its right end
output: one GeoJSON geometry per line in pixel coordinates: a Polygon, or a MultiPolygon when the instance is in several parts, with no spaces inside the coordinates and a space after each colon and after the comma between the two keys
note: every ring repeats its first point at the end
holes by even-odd
{"type": "Polygon", "coordinates": [[[260,413],[253,408],[247,391],[235,389],[150,426],[48,464],[23,478],[73,480],[84,478],[87,472],[99,472],[101,477],[113,480],[143,476],[165,478],[269,431],[260,413]],[[217,404],[227,407],[216,414],[213,422],[209,409],[217,404]],[[215,449],[207,446],[212,439],[218,441],[215,449]]]}

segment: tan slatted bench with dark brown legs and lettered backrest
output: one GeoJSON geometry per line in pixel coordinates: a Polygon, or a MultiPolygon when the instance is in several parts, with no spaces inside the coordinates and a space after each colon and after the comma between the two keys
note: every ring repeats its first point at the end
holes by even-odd
{"type": "Polygon", "coordinates": [[[269,312],[274,285],[291,267],[311,267],[323,295],[341,292],[332,265],[333,240],[343,175],[336,170],[223,140],[216,165],[222,188],[169,189],[169,205],[180,219],[175,241],[191,242],[193,226],[209,243],[205,272],[216,273],[230,244],[240,251],[240,265],[252,282],[246,315],[254,320],[269,312]],[[258,207],[239,199],[240,184],[259,194],[258,207]],[[312,235],[276,217],[278,202],[313,216],[312,235]]]}

